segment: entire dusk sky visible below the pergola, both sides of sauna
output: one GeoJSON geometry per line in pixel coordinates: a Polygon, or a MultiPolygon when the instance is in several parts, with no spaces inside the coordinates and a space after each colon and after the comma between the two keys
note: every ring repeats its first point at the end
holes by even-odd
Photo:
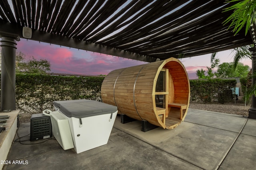
{"type": "MultiPolygon", "coordinates": [[[[125,68],[145,62],[125,59],[112,55],[94,53],[91,51],[78,50],[69,47],[60,47],[59,45],[42,43],[38,41],[20,39],[17,41],[17,52],[21,51],[26,57],[34,57],[35,59],[46,59],[51,64],[51,72],[66,74],[85,74],[85,75],[107,75],[110,71],[118,68],[125,68]]],[[[206,66],[210,67],[210,56],[201,55],[181,59],[184,64],[189,79],[196,79],[196,70],[206,66]]],[[[171,57],[171,56],[170,56],[171,57]]],[[[221,63],[233,62],[232,50],[217,53],[217,58],[221,63]]],[[[243,60],[242,63],[252,67],[250,59],[243,60]]]]}

